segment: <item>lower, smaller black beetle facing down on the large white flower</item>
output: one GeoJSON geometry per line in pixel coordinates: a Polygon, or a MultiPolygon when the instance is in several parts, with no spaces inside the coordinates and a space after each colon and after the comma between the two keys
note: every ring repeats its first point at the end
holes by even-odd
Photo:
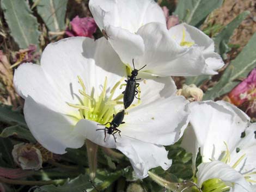
{"type": "MultiPolygon", "coordinates": [[[[103,129],[96,129],[96,131],[98,130],[104,130],[105,131],[105,138],[104,141],[106,142],[106,132],[109,135],[113,135],[114,140],[116,139],[114,134],[118,133],[120,135],[120,130],[117,129],[117,127],[119,127],[120,124],[123,124],[125,122],[123,122],[124,119],[124,110],[122,110],[121,112],[118,112],[116,115],[113,114],[113,120],[111,122],[107,122],[105,124],[97,124],[97,125],[107,125],[108,123],[110,124],[110,127],[105,127],[103,129]]],[[[121,135],[120,135],[121,137],[121,135]]],[[[115,142],[117,142],[117,140],[115,140],[115,142]]]]}

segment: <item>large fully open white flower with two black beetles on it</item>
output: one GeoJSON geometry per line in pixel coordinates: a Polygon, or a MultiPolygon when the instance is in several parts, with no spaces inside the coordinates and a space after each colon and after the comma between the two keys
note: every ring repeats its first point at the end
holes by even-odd
{"type": "Polygon", "coordinates": [[[103,147],[117,148],[131,161],[139,178],[148,170],[172,164],[163,145],[175,143],[187,125],[184,97],[175,96],[170,77],[139,81],[138,95],[126,110],[124,124],[115,137],[104,128],[113,114],[123,110],[126,67],[105,38],[68,38],[49,44],[41,65],[22,64],[14,75],[17,92],[25,99],[27,125],[47,150],[63,154],[89,139],[103,147]],[[28,76],[29,74],[29,76],[28,76]],[[115,141],[116,140],[116,141],[115,141]]]}

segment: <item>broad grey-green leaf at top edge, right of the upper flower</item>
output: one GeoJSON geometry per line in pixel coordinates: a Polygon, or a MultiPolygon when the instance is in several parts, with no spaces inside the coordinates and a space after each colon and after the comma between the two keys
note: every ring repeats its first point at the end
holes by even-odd
{"type": "Polygon", "coordinates": [[[199,27],[205,18],[222,5],[223,0],[179,0],[174,15],[183,22],[199,27]]]}

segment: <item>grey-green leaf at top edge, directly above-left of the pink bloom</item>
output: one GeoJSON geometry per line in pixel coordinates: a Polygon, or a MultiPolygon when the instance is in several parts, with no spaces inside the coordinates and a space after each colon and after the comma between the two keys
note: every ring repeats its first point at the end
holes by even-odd
{"type": "MultiPolygon", "coordinates": [[[[36,0],[34,0],[36,2],[36,0]]],[[[52,32],[60,32],[66,28],[65,15],[68,0],[43,0],[36,5],[38,14],[52,32]]]]}

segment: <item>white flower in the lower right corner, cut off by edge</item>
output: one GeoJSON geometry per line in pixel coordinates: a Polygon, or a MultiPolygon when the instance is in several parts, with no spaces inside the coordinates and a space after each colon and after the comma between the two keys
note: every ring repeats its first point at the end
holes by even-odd
{"type": "Polygon", "coordinates": [[[228,186],[223,185],[226,190],[253,192],[256,123],[250,124],[245,113],[223,101],[193,102],[188,109],[191,126],[181,145],[193,155],[193,170],[200,147],[203,163],[198,166],[198,184],[220,178],[228,186]]]}

